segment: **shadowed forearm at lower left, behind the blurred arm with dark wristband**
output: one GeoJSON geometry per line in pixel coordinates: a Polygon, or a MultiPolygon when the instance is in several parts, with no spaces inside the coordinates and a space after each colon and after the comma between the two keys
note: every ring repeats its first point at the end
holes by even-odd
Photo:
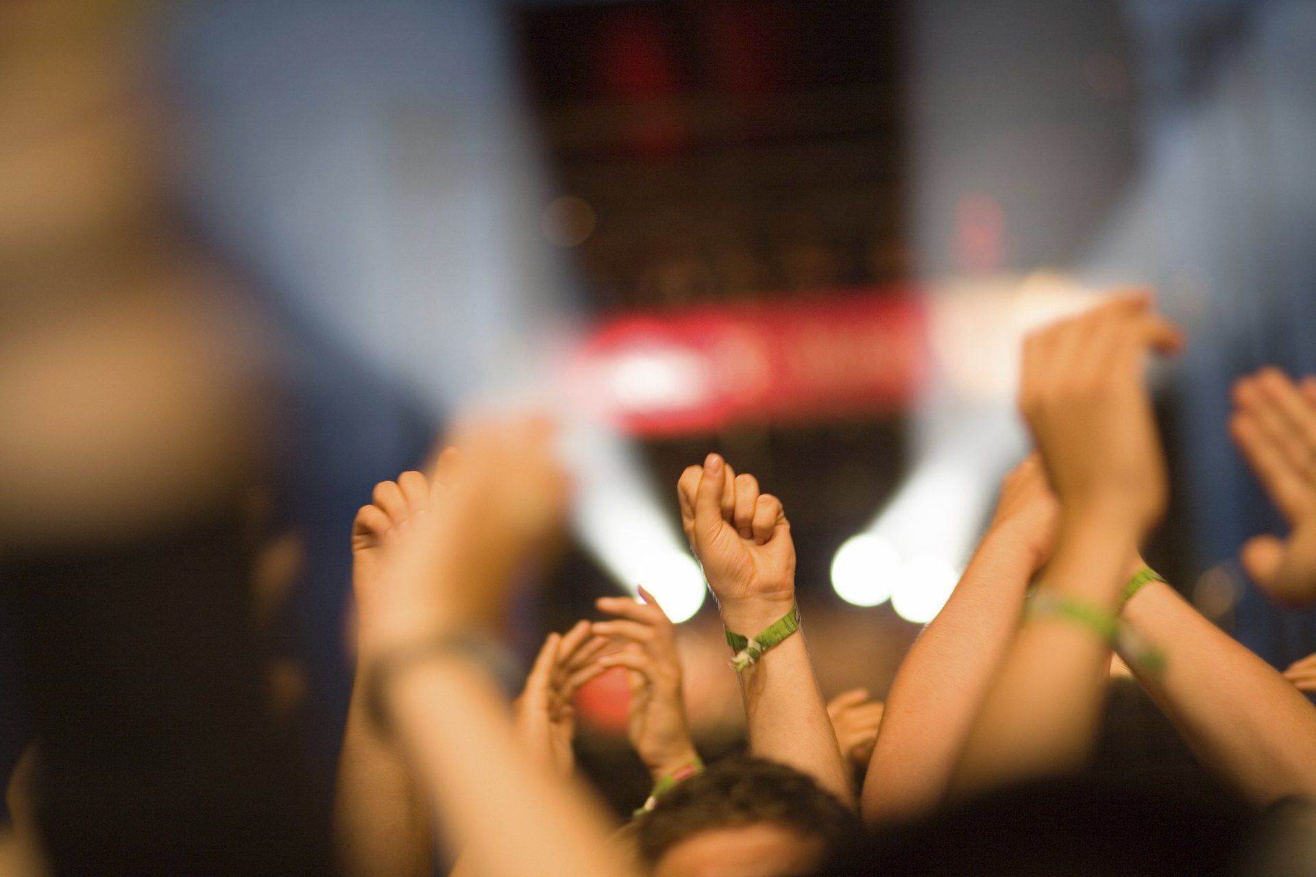
{"type": "Polygon", "coordinates": [[[412,770],[397,746],[379,735],[358,681],[334,797],[334,845],[338,868],[347,877],[429,877],[429,807],[412,770]]]}

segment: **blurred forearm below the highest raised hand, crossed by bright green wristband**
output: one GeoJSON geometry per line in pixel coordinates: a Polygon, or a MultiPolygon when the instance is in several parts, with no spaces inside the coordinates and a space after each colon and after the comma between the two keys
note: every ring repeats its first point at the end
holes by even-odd
{"type": "MultiPolygon", "coordinates": [[[[1112,613],[1133,539],[1099,521],[1062,530],[1041,588],[1112,613]]],[[[1073,619],[1025,623],[974,722],[951,790],[973,793],[1079,768],[1096,735],[1109,646],[1073,619]]]]}

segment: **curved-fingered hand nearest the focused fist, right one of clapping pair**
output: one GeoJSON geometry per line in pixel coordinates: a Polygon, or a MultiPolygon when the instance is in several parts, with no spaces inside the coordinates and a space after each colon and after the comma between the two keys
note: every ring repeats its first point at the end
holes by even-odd
{"type": "Polygon", "coordinates": [[[676,627],[644,588],[640,597],[644,602],[600,597],[599,609],[615,618],[595,622],[591,628],[596,636],[625,643],[620,651],[603,655],[599,664],[626,669],[630,686],[626,732],[657,782],[691,764],[697,753],[686,719],[676,627]]]}

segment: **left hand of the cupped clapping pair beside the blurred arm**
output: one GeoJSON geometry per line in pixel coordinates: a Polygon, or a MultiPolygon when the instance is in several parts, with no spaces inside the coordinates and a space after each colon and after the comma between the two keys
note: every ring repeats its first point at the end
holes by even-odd
{"type": "Polygon", "coordinates": [[[590,622],[576,622],[566,634],[549,634],[516,698],[516,732],[526,749],[563,776],[575,767],[575,706],[580,686],[605,669],[597,661],[608,640],[590,632],[590,622]]]}

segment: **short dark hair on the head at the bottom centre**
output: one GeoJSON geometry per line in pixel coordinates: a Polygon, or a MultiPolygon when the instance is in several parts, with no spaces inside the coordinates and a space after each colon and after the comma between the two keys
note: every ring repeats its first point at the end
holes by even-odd
{"type": "Polygon", "coordinates": [[[828,851],[859,831],[854,811],[812,777],[775,761],[733,756],[658,799],[640,820],[640,856],[653,864],[701,831],[765,822],[819,836],[828,851]]]}

